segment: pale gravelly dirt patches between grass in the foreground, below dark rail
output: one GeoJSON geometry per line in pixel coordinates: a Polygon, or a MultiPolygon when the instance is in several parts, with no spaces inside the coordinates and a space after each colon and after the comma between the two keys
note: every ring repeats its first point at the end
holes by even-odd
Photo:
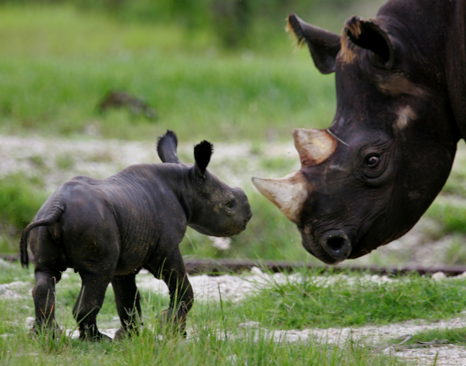
{"type": "MultiPolygon", "coordinates": [[[[1,264],[1,263],[0,263],[1,264]]],[[[70,270],[69,270],[70,271],[70,270]]],[[[71,273],[72,271],[70,271],[71,273]]],[[[285,275],[276,273],[268,275],[263,273],[257,267],[254,267],[251,272],[245,272],[241,276],[223,275],[223,276],[190,276],[189,280],[192,284],[196,301],[219,301],[219,291],[224,300],[232,300],[240,302],[247,294],[263,289],[270,285],[270,283],[286,283],[299,280],[299,274],[285,275]]],[[[344,276],[344,275],[343,275],[344,276]]],[[[464,275],[463,275],[464,276],[464,275]]],[[[444,281],[454,281],[454,278],[441,279],[444,281]]],[[[67,281],[67,273],[64,273],[62,281],[67,281]]],[[[434,277],[435,278],[435,277],[434,277]]],[[[330,285],[329,278],[323,277],[316,278],[317,281],[322,281],[322,285],[330,285]]],[[[433,281],[435,279],[432,279],[433,281]]],[[[367,275],[364,278],[367,282],[385,282],[396,281],[386,276],[367,275]]],[[[330,281],[331,282],[331,281],[330,281]]],[[[137,285],[142,290],[151,290],[155,293],[168,295],[168,289],[165,283],[161,280],[154,278],[146,270],[141,270],[137,275],[137,285]]],[[[21,281],[15,281],[0,285],[0,298],[1,297],[27,297],[30,293],[30,284],[21,281]]],[[[25,326],[29,329],[34,322],[34,318],[27,318],[25,326]]],[[[113,338],[115,332],[120,326],[119,318],[114,318],[112,322],[99,325],[99,329],[113,338]]],[[[463,311],[458,317],[448,320],[438,320],[428,322],[426,320],[417,319],[405,321],[402,323],[392,323],[390,325],[381,326],[361,326],[361,327],[343,327],[343,328],[327,328],[327,329],[303,329],[303,330],[267,330],[261,328],[262,334],[268,334],[275,340],[286,339],[289,342],[308,342],[315,340],[322,343],[337,343],[343,344],[349,338],[357,343],[362,343],[365,346],[380,346],[384,345],[388,340],[393,338],[412,335],[420,331],[431,329],[443,328],[463,328],[466,326],[466,311],[463,311]]],[[[260,325],[257,322],[249,321],[241,323],[240,328],[255,328],[259,329],[260,325]]],[[[68,330],[71,337],[77,338],[79,332],[76,330],[68,330]]],[[[219,336],[223,337],[223,333],[219,331],[219,336]]],[[[188,330],[188,338],[196,337],[192,330],[188,330]]],[[[429,339],[432,340],[432,339],[429,339]]],[[[466,365],[466,347],[446,344],[435,347],[419,348],[419,349],[406,349],[404,351],[396,351],[393,347],[384,348],[381,352],[391,352],[398,357],[408,359],[415,365],[433,365],[434,359],[437,357],[437,364],[439,366],[456,366],[466,365]]]]}

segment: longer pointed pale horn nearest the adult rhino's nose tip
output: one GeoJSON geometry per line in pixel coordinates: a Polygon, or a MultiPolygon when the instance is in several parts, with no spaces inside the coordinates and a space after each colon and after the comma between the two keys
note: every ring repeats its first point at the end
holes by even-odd
{"type": "Polygon", "coordinates": [[[274,203],[291,221],[299,223],[302,205],[308,196],[306,181],[301,172],[283,178],[253,178],[257,190],[274,203]]]}

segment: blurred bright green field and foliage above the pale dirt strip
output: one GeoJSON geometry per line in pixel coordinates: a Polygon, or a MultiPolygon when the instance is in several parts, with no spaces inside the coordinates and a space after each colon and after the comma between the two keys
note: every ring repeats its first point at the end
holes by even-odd
{"type": "MultiPolygon", "coordinates": [[[[293,52],[285,17],[340,33],[352,7],[380,1],[77,0],[0,5],[0,132],[103,138],[288,139],[327,126],[334,77],[293,52]],[[356,5],[355,5],[356,4],[356,5]],[[99,113],[112,90],[140,97],[156,121],[99,113]]],[[[369,15],[369,14],[368,14],[369,15]]]]}

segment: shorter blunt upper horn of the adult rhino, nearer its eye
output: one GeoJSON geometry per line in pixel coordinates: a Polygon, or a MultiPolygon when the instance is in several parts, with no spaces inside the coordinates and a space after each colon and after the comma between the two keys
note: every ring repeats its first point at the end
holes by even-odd
{"type": "Polygon", "coordinates": [[[295,147],[299,152],[301,166],[314,166],[329,159],[336,149],[337,141],[327,130],[293,130],[295,147]]]}

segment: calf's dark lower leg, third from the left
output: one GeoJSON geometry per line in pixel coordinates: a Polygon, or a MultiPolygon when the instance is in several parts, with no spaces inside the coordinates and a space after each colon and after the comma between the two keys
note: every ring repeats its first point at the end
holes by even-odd
{"type": "Polygon", "coordinates": [[[112,287],[122,325],[115,333],[115,339],[121,339],[128,331],[137,333],[137,325],[141,321],[141,297],[136,287],[136,273],[113,276],[112,287]]]}

